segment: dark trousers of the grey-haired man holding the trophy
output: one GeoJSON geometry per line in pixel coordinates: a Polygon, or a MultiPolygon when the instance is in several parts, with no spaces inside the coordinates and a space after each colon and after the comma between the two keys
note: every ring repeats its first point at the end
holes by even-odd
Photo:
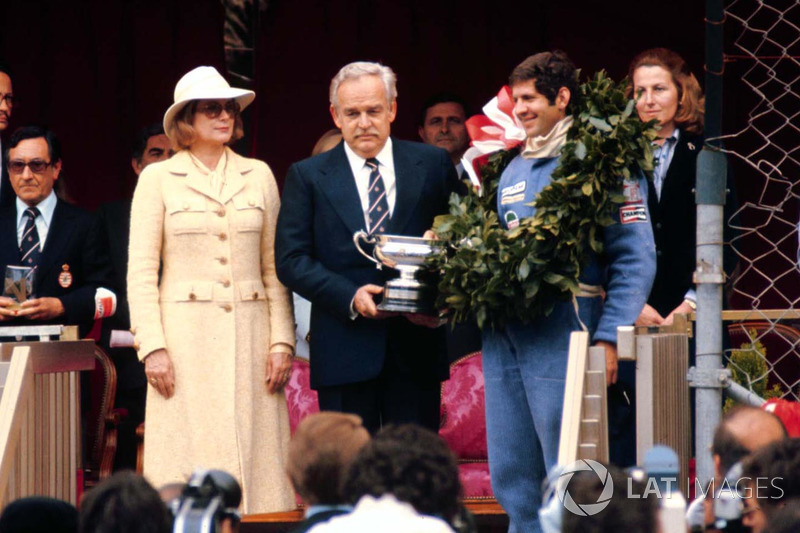
{"type": "Polygon", "coordinates": [[[402,371],[391,350],[373,379],[317,389],[321,411],[353,413],[374,434],[387,424],[418,424],[439,431],[441,383],[402,371]]]}

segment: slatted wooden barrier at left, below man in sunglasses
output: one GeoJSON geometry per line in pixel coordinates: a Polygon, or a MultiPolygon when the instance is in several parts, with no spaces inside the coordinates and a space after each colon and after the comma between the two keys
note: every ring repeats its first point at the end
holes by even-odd
{"type": "Polygon", "coordinates": [[[31,495],[77,503],[78,373],[94,368],[93,353],[92,340],[0,344],[0,365],[7,368],[0,398],[0,508],[31,495]]]}

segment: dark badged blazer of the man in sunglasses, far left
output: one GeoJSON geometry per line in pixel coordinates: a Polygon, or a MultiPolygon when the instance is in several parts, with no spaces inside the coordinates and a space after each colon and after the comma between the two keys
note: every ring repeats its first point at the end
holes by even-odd
{"type": "MultiPolygon", "coordinates": [[[[2,209],[0,214],[0,273],[7,265],[19,264],[17,246],[16,208],[2,209]]],[[[59,298],[64,316],[49,322],[20,319],[4,325],[68,324],[80,326],[85,335],[94,320],[94,294],[97,287],[111,288],[110,268],[105,251],[88,239],[92,215],[62,200],[56,203],[47,240],[39,259],[34,284],[34,296],[59,298]],[[69,270],[72,281],[68,287],[58,282],[59,275],[69,270]]]]}

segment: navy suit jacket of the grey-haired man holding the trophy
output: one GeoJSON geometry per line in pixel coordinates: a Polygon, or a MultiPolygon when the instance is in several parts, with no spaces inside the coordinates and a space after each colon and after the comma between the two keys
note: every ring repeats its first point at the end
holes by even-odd
{"type": "MultiPolygon", "coordinates": [[[[419,237],[436,215],[447,212],[450,193],[458,188],[455,169],[440,148],[392,143],[397,197],[386,232],[419,237]]],[[[392,275],[356,250],[353,234],[362,229],[364,213],[343,144],[292,165],[278,216],[275,262],[279,279],[312,304],[311,386],[377,377],[389,344],[403,354],[397,371],[447,379],[443,328],[414,326],[402,317],[350,319],[356,290],[383,285],[392,275]]]]}

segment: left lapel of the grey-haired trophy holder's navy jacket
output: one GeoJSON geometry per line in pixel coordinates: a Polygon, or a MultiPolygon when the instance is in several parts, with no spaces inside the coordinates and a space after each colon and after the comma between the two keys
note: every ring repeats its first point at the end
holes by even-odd
{"type": "Polygon", "coordinates": [[[344,143],[339,143],[326,156],[320,158],[319,174],[315,176],[319,189],[351,233],[366,230],[356,179],[344,153],[344,143]]]}

